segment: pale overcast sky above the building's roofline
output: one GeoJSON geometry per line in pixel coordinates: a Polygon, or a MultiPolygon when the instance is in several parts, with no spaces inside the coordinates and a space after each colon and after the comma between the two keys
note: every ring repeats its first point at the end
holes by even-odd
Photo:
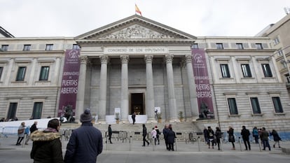
{"type": "Polygon", "coordinates": [[[78,36],[135,14],[193,36],[254,36],[286,15],[289,0],[0,0],[15,37],[78,36]]]}

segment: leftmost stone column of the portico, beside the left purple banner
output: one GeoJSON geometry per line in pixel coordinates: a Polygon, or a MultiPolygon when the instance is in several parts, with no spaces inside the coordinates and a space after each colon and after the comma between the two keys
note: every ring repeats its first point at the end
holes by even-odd
{"type": "Polygon", "coordinates": [[[79,122],[83,113],[83,104],[85,101],[85,74],[87,72],[88,56],[80,57],[81,65],[78,75],[78,94],[76,94],[76,121],[79,122]]]}

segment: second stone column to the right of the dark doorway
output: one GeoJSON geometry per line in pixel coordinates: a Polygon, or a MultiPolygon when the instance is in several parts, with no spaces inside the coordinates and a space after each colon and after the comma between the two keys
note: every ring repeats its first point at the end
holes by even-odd
{"type": "Polygon", "coordinates": [[[174,93],[174,78],[172,67],[173,55],[165,55],[166,71],[167,71],[167,83],[168,83],[168,101],[170,108],[170,121],[177,120],[177,104],[174,93]]]}

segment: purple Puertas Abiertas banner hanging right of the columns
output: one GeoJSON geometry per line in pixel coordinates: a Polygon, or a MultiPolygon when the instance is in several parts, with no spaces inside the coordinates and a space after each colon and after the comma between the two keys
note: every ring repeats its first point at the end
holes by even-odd
{"type": "Polygon", "coordinates": [[[207,73],[207,62],[204,49],[192,49],[193,74],[195,78],[196,96],[198,97],[198,108],[207,107],[214,113],[212,104],[212,91],[209,84],[209,74],[207,73]]]}

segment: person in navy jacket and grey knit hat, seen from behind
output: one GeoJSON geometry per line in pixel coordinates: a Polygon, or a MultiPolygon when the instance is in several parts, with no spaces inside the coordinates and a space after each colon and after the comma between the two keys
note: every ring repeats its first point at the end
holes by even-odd
{"type": "Polygon", "coordinates": [[[74,129],[67,143],[64,162],[95,163],[97,156],[103,150],[102,133],[92,126],[92,114],[89,108],[81,114],[80,121],[81,127],[74,129]]]}

